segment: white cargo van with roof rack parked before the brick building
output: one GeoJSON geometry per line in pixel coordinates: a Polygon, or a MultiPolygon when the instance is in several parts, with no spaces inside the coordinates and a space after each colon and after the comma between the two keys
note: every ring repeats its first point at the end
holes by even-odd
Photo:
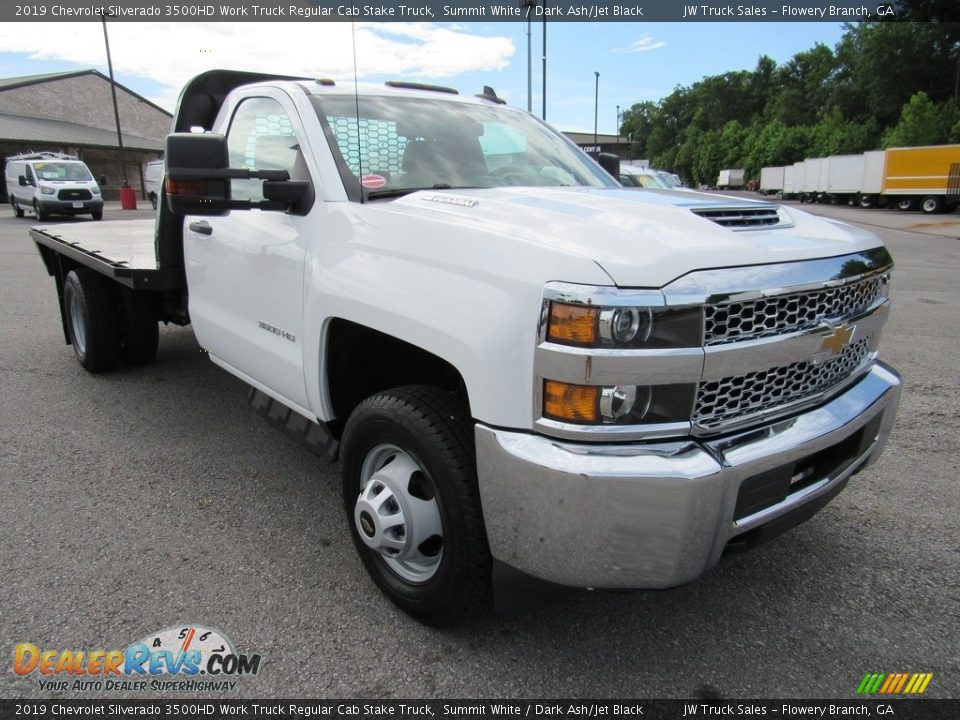
{"type": "Polygon", "coordinates": [[[7,197],[17,217],[23,217],[25,210],[32,210],[41,222],[50,215],[103,217],[100,186],[89,168],[72,155],[14,155],[7,158],[5,174],[7,197]]]}

